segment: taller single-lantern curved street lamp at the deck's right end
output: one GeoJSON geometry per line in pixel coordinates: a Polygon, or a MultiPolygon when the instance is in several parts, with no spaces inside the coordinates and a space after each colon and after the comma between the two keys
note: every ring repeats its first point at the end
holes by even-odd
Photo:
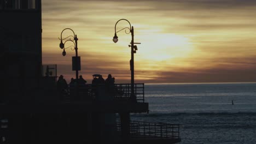
{"type": "Polygon", "coordinates": [[[134,55],[134,53],[136,53],[136,50],[138,50],[138,49],[137,49],[137,46],[134,45],[134,44],[141,44],[141,43],[134,43],[134,41],[133,41],[133,37],[134,37],[134,35],[133,35],[133,26],[131,26],[131,23],[130,23],[128,20],[126,20],[126,19],[120,19],[120,20],[117,21],[117,23],[115,23],[115,35],[114,35],[114,37],[113,37],[114,43],[117,43],[117,42],[118,42],[117,33],[120,32],[120,31],[123,31],[124,29],[129,29],[129,32],[126,32],[126,31],[125,31],[125,33],[126,33],[126,34],[131,33],[131,36],[132,36],[131,45],[129,45],[129,47],[131,47],[131,60],[130,60],[130,70],[131,70],[131,100],[132,100],[132,101],[136,101],[136,95],[134,94],[134,56],[133,56],[133,55],[134,55]],[[119,21],[121,21],[121,20],[127,21],[127,22],[129,23],[129,25],[130,25],[130,28],[129,28],[129,27],[125,27],[125,28],[123,28],[123,29],[117,31],[117,23],[118,23],[119,21]]]}

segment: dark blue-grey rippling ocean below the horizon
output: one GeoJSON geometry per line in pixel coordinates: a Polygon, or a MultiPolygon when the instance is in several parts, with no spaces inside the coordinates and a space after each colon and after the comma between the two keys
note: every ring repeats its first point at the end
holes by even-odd
{"type": "Polygon", "coordinates": [[[149,113],[133,113],[132,121],[180,124],[182,144],[256,143],[256,83],[152,84],[144,91],[149,113]]]}

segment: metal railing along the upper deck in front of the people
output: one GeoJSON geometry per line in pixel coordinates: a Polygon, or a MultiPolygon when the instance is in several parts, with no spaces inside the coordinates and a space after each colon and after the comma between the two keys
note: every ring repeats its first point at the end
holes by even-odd
{"type": "MultiPolygon", "coordinates": [[[[131,98],[131,84],[117,83],[114,84],[113,88],[106,87],[104,84],[79,85],[78,95],[76,95],[75,85],[68,85],[64,95],[71,100],[74,97],[77,97],[79,100],[98,100],[98,95],[102,92],[108,95],[109,100],[127,101],[131,98]]],[[[144,103],[144,83],[135,83],[134,92],[137,102],[144,103]]]]}

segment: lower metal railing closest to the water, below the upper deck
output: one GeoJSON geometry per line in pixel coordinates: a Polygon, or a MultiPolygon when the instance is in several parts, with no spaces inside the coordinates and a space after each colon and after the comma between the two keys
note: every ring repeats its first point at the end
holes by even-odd
{"type": "MultiPolygon", "coordinates": [[[[117,130],[121,131],[121,123],[117,122],[117,130]]],[[[132,139],[179,139],[179,124],[130,122],[132,139]]]]}

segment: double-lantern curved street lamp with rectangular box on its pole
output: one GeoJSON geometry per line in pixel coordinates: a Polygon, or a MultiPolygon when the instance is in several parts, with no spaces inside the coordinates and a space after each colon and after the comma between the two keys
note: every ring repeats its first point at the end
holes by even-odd
{"type": "Polygon", "coordinates": [[[75,79],[78,80],[78,70],[81,69],[81,67],[80,67],[80,57],[78,57],[78,52],[77,52],[77,50],[78,50],[78,48],[77,48],[78,38],[77,38],[77,35],[74,33],[74,31],[71,28],[65,28],[65,29],[63,29],[63,31],[61,32],[61,38],[59,38],[61,40],[60,48],[63,49],[62,56],[66,56],[65,49],[68,49],[69,47],[71,47],[71,50],[75,50],[75,57],[72,57],[72,70],[75,70],[75,79]],[[74,35],[69,35],[68,37],[62,39],[62,33],[66,29],[71,30],[74,35]],[[63,40],[65,40],[64,43],[63,43],[63,40]],[[71,41],[74,44],[74,46],[65,47],[65,43],[67,41],[71,41]],[[72,47],[74,47],[74,49],[72,49],[72,47]]]}

